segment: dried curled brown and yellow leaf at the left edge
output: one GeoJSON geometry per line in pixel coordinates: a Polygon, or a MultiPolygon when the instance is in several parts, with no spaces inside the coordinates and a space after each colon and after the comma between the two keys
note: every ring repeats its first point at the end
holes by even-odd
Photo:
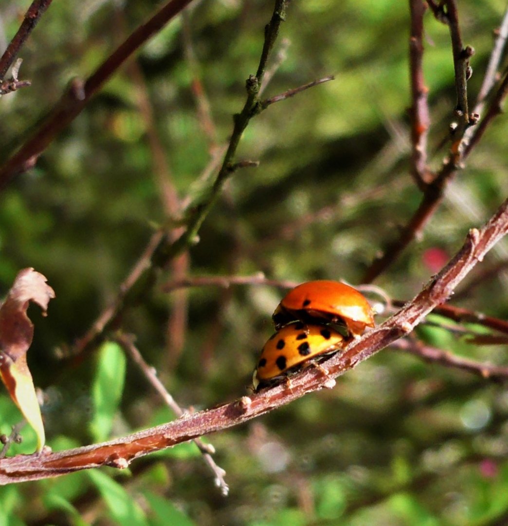
{"type": "Polygon", "coordinates": [[[32,344],[34,325],[26,311],[30,301],[43,309],[55,297],[46,278],[33,268],[21,270],[0,307],[0,377],[9,395],[37,434],[37,451],[45,441],[43,420],[35,393],[26,352],[32,344]]]}

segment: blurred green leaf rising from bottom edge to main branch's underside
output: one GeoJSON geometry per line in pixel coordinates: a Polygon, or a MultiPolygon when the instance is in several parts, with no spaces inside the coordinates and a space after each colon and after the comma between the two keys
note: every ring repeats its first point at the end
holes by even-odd
{"type": "Polygon", "coordinates": [[[115,521],[122,526],[149,526],[139,504],[118,482],[98,470],[89,471],[88,476],[96,485],[115,521]]]}

